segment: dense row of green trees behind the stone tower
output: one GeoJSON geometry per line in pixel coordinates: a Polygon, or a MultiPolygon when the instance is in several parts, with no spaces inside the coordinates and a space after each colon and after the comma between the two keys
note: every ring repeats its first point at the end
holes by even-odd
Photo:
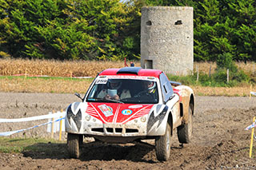
{"type": "Polygon", "coordinates": [[[194,7],[194,61],[256,61],[255,0],[0,0],[0,57],[139,59],[142,6],[194,7]]]}

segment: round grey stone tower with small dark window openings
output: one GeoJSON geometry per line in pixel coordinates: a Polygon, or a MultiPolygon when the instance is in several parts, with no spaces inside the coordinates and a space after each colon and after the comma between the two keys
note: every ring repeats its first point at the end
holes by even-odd
{"type": "Polygon", "coordinates": [[[174,75],[192,73],[193,41],[193,7],[142,7],[142,68],[174,75]]]}

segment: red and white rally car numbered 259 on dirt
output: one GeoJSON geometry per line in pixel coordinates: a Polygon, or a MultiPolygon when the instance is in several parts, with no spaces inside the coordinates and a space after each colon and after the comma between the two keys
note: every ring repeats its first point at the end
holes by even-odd
{"type": "MultiPolygon", "coordinates": [[[[78,97],[80,95],[77,94],[78,97]]],[[[67,148],[78,158],[84,136],[106,143],[155,139],[158,160],[170,157],[170,136],[189,143],[194,92],[169,81],[158,69],[106,69],[94,79],[82,102],[66,109],[67,148]]]]}

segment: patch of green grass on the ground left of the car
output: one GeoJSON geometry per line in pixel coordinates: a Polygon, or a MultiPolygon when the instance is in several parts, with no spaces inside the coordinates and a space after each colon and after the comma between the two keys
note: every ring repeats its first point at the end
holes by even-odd
{"type": "Polygon", "coordinates": [[[9,138],[0,137],[0,152],[5,153],[21,153],[21,152],[51,152],[52,148],[50,144],[64,143],[64,141],[58,141],[45,138],[9,138]],[[40,145],[47,145],[48,147],[38,147],[40,145]]]}

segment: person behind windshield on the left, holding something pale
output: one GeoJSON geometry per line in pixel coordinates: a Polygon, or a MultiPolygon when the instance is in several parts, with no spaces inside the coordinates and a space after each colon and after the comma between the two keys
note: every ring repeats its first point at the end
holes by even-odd
{"type": "Polygon", "coordinates": [[[129,89],[121,89],[122,81],[118,79],[109,79],[106,85],[107,89],[102,89],[102,91],[98,93],[98,98],[114,99],[120,101],[121,99],[130,97],[129,89]],[[113,96],[110,96],[110,90],[112,93],[115,93],[113,96]]]}

